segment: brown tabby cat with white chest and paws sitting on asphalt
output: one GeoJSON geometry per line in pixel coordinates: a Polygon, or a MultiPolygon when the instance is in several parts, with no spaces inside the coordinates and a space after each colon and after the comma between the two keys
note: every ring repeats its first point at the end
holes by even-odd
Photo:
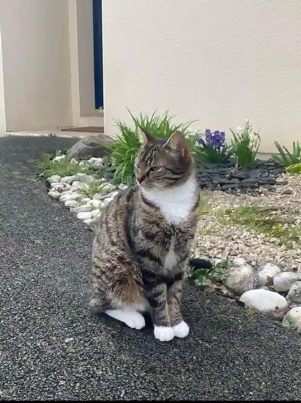
{"type": "MultiPolygon", "coordinates": [[[[200,190],[184,134],[167,140],[141,128],[141,136],[136,185],[106,206],[93,240],[90,306],[134,329],[150,312],[155,338],[169,341],[189,332],[180,303],[200,190]]],[[[202,259],[194,264],[210,267],[202,259]]]]}

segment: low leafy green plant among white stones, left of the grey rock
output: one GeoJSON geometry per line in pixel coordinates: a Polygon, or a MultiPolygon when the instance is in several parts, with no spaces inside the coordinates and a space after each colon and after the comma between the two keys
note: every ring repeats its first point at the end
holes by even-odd
{"type": "Polygon", "coordinates": [[[52,175],[72,176],[81,171],[78,165],[70,164],[66,158],[54,161],[51,154],[43,154],[37,166],[42,170],[41,176],[48,178],[52,175]]]}

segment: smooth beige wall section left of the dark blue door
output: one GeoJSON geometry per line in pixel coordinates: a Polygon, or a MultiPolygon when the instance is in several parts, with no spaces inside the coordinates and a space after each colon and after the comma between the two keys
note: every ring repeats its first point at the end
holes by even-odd
{"type": "Polygon", "coordinates": [[[68,1],[0,0],[0,30],[6,130],[72,125],[68,1]]]}

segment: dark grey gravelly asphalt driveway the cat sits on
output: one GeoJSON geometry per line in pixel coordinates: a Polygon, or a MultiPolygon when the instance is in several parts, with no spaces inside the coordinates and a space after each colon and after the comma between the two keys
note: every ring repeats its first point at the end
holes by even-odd
{"type": "Polygon", "coordinates": [[[1,400],[300,400],[301,336],[187,285],[190,335],[94,318],[92,234],[35,180],[62,138],[0,138],[1,400]]]}

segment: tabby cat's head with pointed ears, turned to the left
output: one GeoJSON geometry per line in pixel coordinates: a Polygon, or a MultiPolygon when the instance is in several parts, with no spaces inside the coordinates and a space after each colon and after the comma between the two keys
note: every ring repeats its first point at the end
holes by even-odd
{"type": "Polygon", "coordinates": [[[184,184],[193,172],[193,158],[184,134],[175,132],[164,139],[140,129],[143,145],[135,161],[137,184],[158,190],[184,184]]]}

